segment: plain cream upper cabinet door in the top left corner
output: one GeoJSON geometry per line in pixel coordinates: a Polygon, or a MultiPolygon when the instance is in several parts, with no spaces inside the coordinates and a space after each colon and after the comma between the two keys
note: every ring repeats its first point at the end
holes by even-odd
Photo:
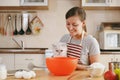
{"type": "Polygon", "coordinates": [[[19,6],[19,0],[2,0],[0,6],[19,6]]]}

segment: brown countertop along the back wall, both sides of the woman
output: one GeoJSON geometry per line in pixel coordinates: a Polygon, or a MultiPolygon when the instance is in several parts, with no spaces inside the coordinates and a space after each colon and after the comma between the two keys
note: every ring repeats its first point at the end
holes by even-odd
{"type": "MultiPolygon", "coordinates": [[[[48,48],[25,48],[25,49],[21,49],[21,48],[0,48],[0,54],[24,54],[24,53],[28,53],[28,54],[45,54],[45,50],[48,48]]],[[[101,55],[104,54],[118,54],[120,55],[120,50],[101,50],[101,55]]]]}

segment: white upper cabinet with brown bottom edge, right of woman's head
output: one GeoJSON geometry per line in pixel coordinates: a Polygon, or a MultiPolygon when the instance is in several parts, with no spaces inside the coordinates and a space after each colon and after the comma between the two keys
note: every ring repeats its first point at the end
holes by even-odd
{"type": "Polygon", "coordinates": [[[120,0],[81,0],[86,9],[120,9],[120,0]]]}

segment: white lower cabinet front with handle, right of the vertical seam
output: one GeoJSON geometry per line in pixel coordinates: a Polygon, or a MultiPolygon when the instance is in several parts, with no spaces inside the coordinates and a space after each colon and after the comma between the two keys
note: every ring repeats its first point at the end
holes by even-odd
{"type": "Polygon", "coordinates": [[[28,69],[28,64],[44,66],[43,54],[15,54],[15,69],[28,69]]]}

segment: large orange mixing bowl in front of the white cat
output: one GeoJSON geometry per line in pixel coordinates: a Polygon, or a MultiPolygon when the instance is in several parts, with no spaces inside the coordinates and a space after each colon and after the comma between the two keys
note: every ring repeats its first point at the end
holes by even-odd
{"type": "Polygon", "coordinates": [[[77,67],[78,59],[70,57],[52,57],[46,58],[48,70],[57,76],[71,74],[77,67]]]}

